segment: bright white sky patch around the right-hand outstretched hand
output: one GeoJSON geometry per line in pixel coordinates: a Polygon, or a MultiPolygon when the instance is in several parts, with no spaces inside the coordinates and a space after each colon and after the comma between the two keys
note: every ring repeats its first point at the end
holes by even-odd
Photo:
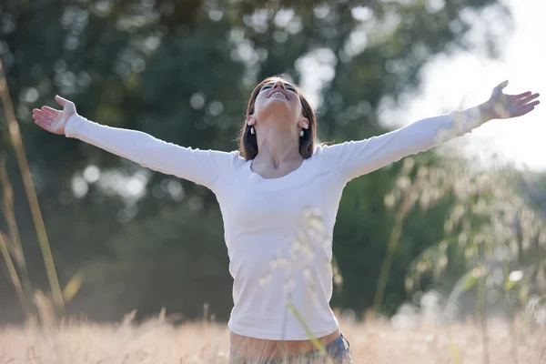
{"type": "MultiPolygon", "coordinates": [[[[508,79],[505,93],[539,92],[543,104],[526,116],[492,120],[449,142],[449,147],[455,146],[485,167],[510,164],[546,171],[546,1],[504,3],[511,9],[513,26],[492,23],[493,30],[503,34],[499,58],[490,59],[480,51],[432,58],[422,73],[420,90],[405,97],[408,101],[386,114],[384,122],[403,126],[447,110],[477,106],[487,101],[494,86],[508,79]],[[398,120],[399,125],[392,120],[398,120]]],[[[480,44],[480,22],[491,21],[495,21],[491,14],[476,19],[470,41],[480,44]]]]}

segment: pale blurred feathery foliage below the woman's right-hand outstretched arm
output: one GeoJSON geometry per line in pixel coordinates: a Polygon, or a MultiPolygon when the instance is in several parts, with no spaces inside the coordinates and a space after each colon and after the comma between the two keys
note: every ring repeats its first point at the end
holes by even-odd
{"type": "MultiPolygon", "coordinates": [[[[512,290],[520,292],[521,306],[527,303],[529,289],[535,295],[544,290],[546,220],[529,201],[526,175],[510,168],[471,171],[459,161],[445,158],[441,167],[420,167],[422,173],[412,177],[413,164],[406,164],[411,167],[403,168],[398,177],[403,182],[385,199],[389,207],[399,209],[408,191],[414,195],[413,203],[424,209],[445,197],[451,200],[438,224],[443,226],[442,238],[410,264],[407,289],[420,288],[420,278],[426,275],[436,283],[444,280],[445,287],[457,279],[448,310],[478,281],[487,282],[488,290],[501,291],[501,298],[506,297],[509,305],[512,290]],[[458,278],[462,268],[470,271],[458,278]]],[[[478,290],[479,295],[485,294],[478,290]]]]}

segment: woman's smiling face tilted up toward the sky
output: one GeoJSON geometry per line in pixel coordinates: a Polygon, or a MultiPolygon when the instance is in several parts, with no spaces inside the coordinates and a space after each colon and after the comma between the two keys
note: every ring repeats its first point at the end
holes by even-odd
{"type": "Polygon", "coordinates": [[[254,103],[254,114],[248,125],[262,120],[288,122],[299,128],[308,128],[308,120],[302,115],[301,101],[296,87],[282,80],[271,81],[262,86],[254,103]]]}

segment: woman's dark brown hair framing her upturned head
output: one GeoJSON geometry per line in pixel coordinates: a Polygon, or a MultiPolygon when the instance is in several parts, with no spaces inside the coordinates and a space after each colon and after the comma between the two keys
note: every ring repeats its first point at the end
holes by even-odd
{"type": "MultiPolygon", "coordinates": [[[[258,84],[252,91],[250,99],[248,100],[247,116],[245,117],[245,123],[239,132],[239,149],[240,153],[246,160],[254,159],[258,155],[258,141],[256,134],[250,133],[250,126],[247,124],[248,116],[254,114],[254,104],[258,97],[259,91],[262,86],[275,81],[282,81],[292,85],[282,76],[268,77],[258,84]]],[[[298,86],[293,85],[298,93],[299,100],[301,102],[301,109],[303,116],[308,118],[309,126],[307,129],[303,129],[303,136],[299,137],[299,154],[301,157],[308,158],[313,155],[315,151],[315,139],[317,137],[317,120],[315,119],[315,113],[308,103],[308,100],[303,96],[298,86]]]]}

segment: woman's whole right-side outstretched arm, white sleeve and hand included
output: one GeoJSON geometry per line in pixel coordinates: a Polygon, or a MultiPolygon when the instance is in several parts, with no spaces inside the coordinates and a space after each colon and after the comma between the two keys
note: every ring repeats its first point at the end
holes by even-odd
{"type": "Polygon", "coordinates": [[[523,116],[540,103],[539,94],[531,92],[503,94],[507,85],[505,81],[493,88],[490,99],[480,106],[428,117],[381,136],[322,147],[321,159],[350,180],[470,133],[492,119],[523,116]]]}

